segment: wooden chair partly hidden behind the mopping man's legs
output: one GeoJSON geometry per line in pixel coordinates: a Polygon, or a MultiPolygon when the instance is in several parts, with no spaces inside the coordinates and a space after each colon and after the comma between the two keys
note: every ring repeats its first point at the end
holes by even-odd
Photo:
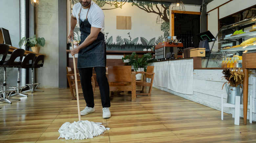
{"type": "MultiPolygon", "coordinates": [[[[71,70],[71,67],[66,67],[66,69],[67,69],[67,78],[68,78],[68,83],[69,83],[69,88],[70,88],[70,91],[71,91],[71,96],[72,96],[72,100],[75,100],[76,99],[76,96],[77,95],[75,95],[76,94],[76,91],[75,91],[75,94],[74,94],[74,90],[76,90],[75,89],[75,74],[74,73],[72,73],[72,70],[71,70]]],[[[76,73],[76,75],[78,75],[79,76],[79,73],[76,73]]],[[[95,83],[96,83],[96,80],[95,80],[95,78],[92,76],[92,86],[93,86],[93,93],[94,93],[94,91],[95,91],[95,83]]],[[[78,89],[80,88],[82,88],[81,87],[81,83],[80,83],[80,80],[77,80],[77,86],[78,86],[78,89]]],[[[80,94],[80,93],[78,93],[79,95],[83,95],[82,93],[80,94]]]]}

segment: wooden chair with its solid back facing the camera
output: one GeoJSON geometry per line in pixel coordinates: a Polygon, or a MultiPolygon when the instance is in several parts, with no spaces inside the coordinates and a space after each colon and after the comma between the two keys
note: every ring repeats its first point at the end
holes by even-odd
{"type": "Polygon", "coordinates": [[[135,72],[131,66],[108,67],[109,91],[132,91],[132,101],[136,101],[135,72]]]}

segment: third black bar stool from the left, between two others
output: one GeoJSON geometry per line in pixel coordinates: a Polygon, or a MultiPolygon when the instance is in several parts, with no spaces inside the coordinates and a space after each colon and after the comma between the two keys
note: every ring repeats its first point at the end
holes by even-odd
{"type": "Polygon", "coordinates": [[[34,60],[35,60],[35,54],[27,54],[20,65],[13,66],[14,68],[18,68],[18,80],[17,80],[17,86],[16,87],[10,87],[10,88],[15,89],[17,92],[15,94],[9,95],[8,98],[14,97],[14,96],[17,96],[17,95],[28,97],[27,93],[23,93],[23,94],[21,93],[21,90],[23,88],[26,88],[27,86],[20,86],[20,68],[25,69],[25,68],[32,67],[32,64],[34,63],[34,60]]]}

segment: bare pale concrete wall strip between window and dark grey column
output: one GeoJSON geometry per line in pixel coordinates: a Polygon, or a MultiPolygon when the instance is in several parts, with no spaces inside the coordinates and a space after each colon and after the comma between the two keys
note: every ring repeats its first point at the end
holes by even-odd
{"type": "Polygon", "coordinates": [[[44,37],[46,41],[45,46],[40,47],[40,54],[45,55],[45,60],[44,66],[37,69],[37,82],[40,83],[38,87],[57,88],[59,80],[57,0],[40,1],[36,7],[36,36],[44,37]]]}

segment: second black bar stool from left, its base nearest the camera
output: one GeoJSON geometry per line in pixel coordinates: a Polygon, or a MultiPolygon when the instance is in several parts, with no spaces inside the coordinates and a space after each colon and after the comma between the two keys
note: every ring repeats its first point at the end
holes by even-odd
{"type": "MultiPolygon", "coordinates": [[[[6,45],[8,46],[8,45],[6,45]]],[[[2,47],[6,47],[6,46],[3,46],[1,45],[1,48],[2,47]]],[[[9,47],[9,46],[8,46],[9,47]]],[[[0,49],[1,49],[0,48],[0,49]]],[[[10,47],[9,47],[10,48],[10,47]]],[[[23,56],[24,56],[24,49],[15,49],[12,53],[11,53],[11,56],[9,58],[9,60],[7,61],[4,61],[2,65],[0,65],[0,67],[3,67],[4,68],[4,83],[3,83],[3,86],[4,86],[4,90],[2,90],[2,93],[3,93],[3,98],[1,98],[0,101],[2,102],[7,102],[7,103],[10,103],[11,104],[11,101],[9,101],[7,99],[8,95],[10,95],[12,92],[16,92],[16,90],[14,89],[6,89],[6,86],[7,86],[7,83],[6,83],[6,68],[12,68],[14,65],[20,65],[21,64],[21,61],[23,59],[23,56]],[[15,61],[16,58],[19,58],[18,61],[15,61]]],[[[13,99],[13,100],[20,100],[20,99],[13,99]]]]}

